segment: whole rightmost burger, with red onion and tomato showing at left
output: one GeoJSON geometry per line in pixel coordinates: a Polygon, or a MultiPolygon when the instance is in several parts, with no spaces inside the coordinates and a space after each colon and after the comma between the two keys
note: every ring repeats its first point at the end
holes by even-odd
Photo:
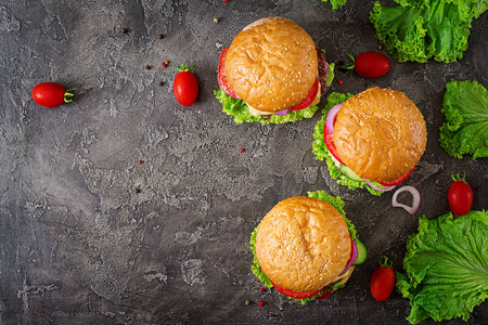
{"type": "Polygon", "coordinates": [[[402,92],[370,88],[357,95],[333,93],[314,128],[313,153],[331,177],[374,195],[406,181],[427,142],[424,117],[402,92]]]}

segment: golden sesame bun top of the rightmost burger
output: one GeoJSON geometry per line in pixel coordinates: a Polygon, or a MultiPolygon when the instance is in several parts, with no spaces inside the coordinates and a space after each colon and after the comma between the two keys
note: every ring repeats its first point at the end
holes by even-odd
{"type": "Polygon", "coordinates": [[[424,117],[402,92],[370,88],[343,103],[334,144],[362,179],[395,180],[412,170],[427,142],[424,117]]]}

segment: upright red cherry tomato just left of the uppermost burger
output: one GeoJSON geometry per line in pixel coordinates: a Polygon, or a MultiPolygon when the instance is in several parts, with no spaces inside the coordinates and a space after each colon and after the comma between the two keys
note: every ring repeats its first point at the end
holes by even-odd
{"type": "Polygon", "coordinates": [[[191,106],[196,101],[198,95],[198,81],[196,81],[195,75],[192,74],[193,66],[191,68],[188,65],[178,65],[177,69],[180,72],[172,84],[175,98],[183,106],[191,106]]]}

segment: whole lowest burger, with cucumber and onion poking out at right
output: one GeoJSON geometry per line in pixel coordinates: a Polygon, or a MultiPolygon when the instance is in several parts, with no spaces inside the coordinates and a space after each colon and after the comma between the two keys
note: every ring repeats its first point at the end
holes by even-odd
{"type": "Polygon", "coordinates": [[[253,273],[301,303],[344,287],[367,252],[343,207],[323,191],[280,202],[251,236],[253,273]]]}

